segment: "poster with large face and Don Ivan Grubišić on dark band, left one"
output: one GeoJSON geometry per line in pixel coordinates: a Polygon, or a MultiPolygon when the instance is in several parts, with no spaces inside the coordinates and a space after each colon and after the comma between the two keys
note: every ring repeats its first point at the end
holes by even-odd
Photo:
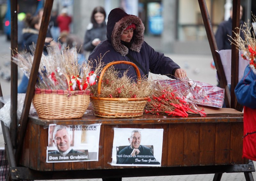
{"type": "Polygon", "coordinates": [[[46,163],[98,161],[101,124],[50,124],[46,163]]]}

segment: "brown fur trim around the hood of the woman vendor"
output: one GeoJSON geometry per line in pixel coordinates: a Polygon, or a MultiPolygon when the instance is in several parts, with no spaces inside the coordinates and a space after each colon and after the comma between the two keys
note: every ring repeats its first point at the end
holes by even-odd
{"type": "Polygon", "coordinates": [[[121,43],[121,35],[124,29],[130,23],[134,23],[136,25],[136,29],[133,32],[133,42],[130,49],[136,52],[140,52],[140,48],[144,42],[145,27],[141,19],[134,15],[124,16],[115,24],[113,32],[111,34],[112,46],[122,56],[125,56],[126,54],[128,54],[129,49],[121,43]]]}

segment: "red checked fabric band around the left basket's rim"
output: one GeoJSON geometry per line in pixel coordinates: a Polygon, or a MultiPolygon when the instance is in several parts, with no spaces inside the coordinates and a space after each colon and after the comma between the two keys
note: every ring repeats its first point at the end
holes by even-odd
{"type": "Polygon", "coordinates": [[[90,90],[84,91],[69,91],[69,90],[52,90],[52,89],[35,89],[35,94],[59,94],[59,95],[89,95],[90,90]]]}

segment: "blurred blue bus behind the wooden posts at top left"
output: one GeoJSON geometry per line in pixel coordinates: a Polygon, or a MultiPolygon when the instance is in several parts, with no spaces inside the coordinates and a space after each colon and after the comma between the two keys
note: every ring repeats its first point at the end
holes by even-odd
{"type": "MultiPolygon", "coordinates": [[[[31,13],[36,15],[44,7],[43,0],[18,0],[18,13],[31,13]]],[[[4,16],[4,33],[7,40],[11,39],[11,0],[7,0],[7,9],[4,16]]]]}

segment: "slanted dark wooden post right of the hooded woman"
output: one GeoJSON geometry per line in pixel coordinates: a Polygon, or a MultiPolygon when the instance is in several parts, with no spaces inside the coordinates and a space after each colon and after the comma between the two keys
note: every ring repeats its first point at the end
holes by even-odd
{"type": "Polygon", "coordinates": [[[212,23],[209,17],[208,9],[207,9],[205,0],[198,0],[198,3],[199,3],[201,14],[203,17],[207,38],[210,44],[212,58],[215,63],[215,67],[217,69],[217,75],[220,81],[220,87],[225,89],[225,103],[227,108],[230,108],[230,92],[227,84],[227,79],[224,73],[224,69],[220,60],[220,54],[216,52],[218,51],[218,47],[217,47],[215,36],[212,30],[212,23]]]}

